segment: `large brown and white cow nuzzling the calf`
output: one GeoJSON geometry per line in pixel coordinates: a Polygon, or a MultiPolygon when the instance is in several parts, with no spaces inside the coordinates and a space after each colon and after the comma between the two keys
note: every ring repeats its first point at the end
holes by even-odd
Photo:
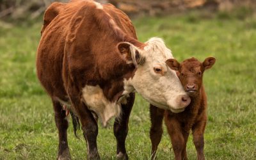
{"type": "Polygon", "coordinates": [[[116,117],[116,154],[127,159],[125,138],[134,92],[174,112],[183,111],[190,102],[175,71],[165,63],[173,56],[163,40],[138,42],[131,20],[111,4],[52,3],[45,11],[41,34],[36,68],[54,106],[58,159],[70,159],[64,105],[81,122],[88,159],[99,159],[95,115],[103,125],[116,117]]]}

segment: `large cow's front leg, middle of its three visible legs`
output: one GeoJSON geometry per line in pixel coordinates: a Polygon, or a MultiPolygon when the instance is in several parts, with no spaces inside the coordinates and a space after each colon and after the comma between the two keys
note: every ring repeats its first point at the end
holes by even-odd
{"type": "MultiPolygon", "coordinates": [[[[76,88],[71,88],[76,89],[76,88]]],[[[87,108],[84,102],[79,99],[77,92],[70,92],[69,97],[72,102],[73,109],[78,116],[82,129],[84,138],[87,143],[87,158],[88,159],[100,159],[98,149],[97,149],[97,135],[98,135],[98,125],[92,112],[87,108]],[[72,95],[70,93],[73,93],[72,95]]]]}

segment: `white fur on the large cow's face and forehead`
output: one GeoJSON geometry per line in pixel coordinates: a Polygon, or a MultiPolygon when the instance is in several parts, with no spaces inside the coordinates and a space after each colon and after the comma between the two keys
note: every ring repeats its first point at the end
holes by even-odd
{"type": "MultiPolygon", "coordinates": [[[[151,104],[163,109],[180,109],[179,95],[186,95],[174,70],[167,67],[165,61],[173,58],[170,49],[166,48],[161,38],[150,38],[146,42],[147,46],[137,49],[145,62],[137,66],[137,70],[129,81],[130,86],[140,93],[144,99],[151,104]],[[164,74],[154,72],[154,67],[161,67],[164,74]]],[[[133,53],[135,55],[135,53],[133,53]]]]}

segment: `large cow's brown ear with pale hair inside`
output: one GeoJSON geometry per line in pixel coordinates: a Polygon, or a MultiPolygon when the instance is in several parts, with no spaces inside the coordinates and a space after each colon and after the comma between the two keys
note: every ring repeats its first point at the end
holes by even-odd
{"type": "Polygon", "coordinates": [[[118,45],[118,51],[120,52],[122,58],[127,63],[133,63],[135,67],[142,65],[145,61],[145,58],[141,56],[138,48],[129,42],[120,42],[118,45]]]}

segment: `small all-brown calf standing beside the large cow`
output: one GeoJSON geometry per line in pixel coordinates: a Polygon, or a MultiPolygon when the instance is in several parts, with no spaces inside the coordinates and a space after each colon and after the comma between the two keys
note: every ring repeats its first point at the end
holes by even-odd
{"type": "Polygon", "coordinates": [[[172,111],[156,108],[150,104],[152,159],[156,157],[157,146],[163,134],[163,118],[172,141],[176,160],[188,159],[186,143],[190,130],[193,133],[197,159],[205,159],[204,130],[207,121],[207,97],[202,82],[204,71],[214,65],[215,58],[206,58],[203,63],[196,60],[196,58],[189,58],[182,63],[175,59],[170,59],[166,63],[170,68],[177,71],[184,90],[191,98],[191,102],[181,113],[172,113],[172,111]]]}

